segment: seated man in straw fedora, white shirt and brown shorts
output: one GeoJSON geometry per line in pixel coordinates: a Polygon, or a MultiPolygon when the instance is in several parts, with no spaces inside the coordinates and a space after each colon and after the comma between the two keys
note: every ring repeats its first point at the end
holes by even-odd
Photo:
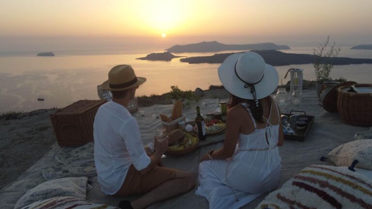
{"type": "Polygon", "coordinates": [[[94,162],[101,190],[115,196],[144,194],[131,202],[121,201],[122,209],[145,208],[186,193],[195,183],[192,173],[158,166],[168,139],[157,142],[151,156],[143,148],[137,120],[127,106],[145,81],[130,65],[113,67],[101,85],[112,92],[112,100],[99,107],[94,119],[94,162]]]}

